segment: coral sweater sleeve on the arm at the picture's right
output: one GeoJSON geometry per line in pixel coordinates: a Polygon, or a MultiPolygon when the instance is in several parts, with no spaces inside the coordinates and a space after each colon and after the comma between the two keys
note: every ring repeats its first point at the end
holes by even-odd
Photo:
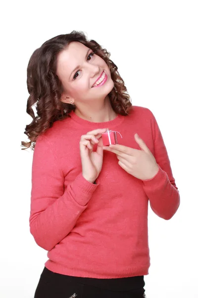
{"type": "Polygon", "coordinates": [[[154,157],[158,172],[148,180],[142,180],[152,211],[165,220],[176,213],[180,205],[180,195],[172,174],[168,153],[154,115],[151,113],[151,129],[154,142],[154,157]]]}

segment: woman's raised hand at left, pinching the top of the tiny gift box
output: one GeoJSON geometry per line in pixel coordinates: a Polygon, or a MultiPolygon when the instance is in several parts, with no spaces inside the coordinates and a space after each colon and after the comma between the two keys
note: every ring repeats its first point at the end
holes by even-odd
{"type": "Polygon", "coordinates": [[[83,177],[91,183],[98,178],[102,168],[103,149],[101,134],[106,132],[106,128],[100,128],[82,135],[80,139],[80,156],[82,163],[83,177]],[[97,150],[94,152],[94,145],[97,150]]]}

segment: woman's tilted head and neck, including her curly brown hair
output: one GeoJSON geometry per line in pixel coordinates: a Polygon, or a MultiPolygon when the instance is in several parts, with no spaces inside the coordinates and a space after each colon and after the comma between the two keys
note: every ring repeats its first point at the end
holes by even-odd
{"type": "Polygon", "coordinates": [[[130,96],[109,57],[106,49],[78,31],[53,37],[34,51],[27,69],[27,113],[33,121],[24,132],[30,142],[22,142],[22,149],[34,149],[39,135],[70,117],[71,111],[94,122],[128,115],[130,96]]]}

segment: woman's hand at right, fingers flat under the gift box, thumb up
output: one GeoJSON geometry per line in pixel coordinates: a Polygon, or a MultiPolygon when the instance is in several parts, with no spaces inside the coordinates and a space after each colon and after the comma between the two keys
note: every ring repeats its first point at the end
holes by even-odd
{"type": "Polygon", "coordinates": [[[138,134],[135,134],[135,140],[141,150],[119,144],[103,146],[103,149],[115,153],[119,159],[118,164],[127,173],[141,180],[152,179],[159,170],[158,164],[138,134]]]}

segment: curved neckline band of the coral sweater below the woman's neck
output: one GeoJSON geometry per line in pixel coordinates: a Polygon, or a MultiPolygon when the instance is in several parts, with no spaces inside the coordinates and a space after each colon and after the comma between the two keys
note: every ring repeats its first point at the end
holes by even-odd
{"type": "Polygon", "coordinates": [[[75,121],[77,124],[79,124],[83,127],[109,128],[109,129],[111,129],[112,127],[115,127],[115,126],[121,124],[124,121],[124,116],[120,115],[120,114],[117,114],[117,116],[113,120],[105,121],[105,122],[92,122],[92,121],[85,120],[85,119],[79,117],[78,115],[76,115],[74,113],[74,110],[72,110],[70,112],[70,116],[71,116],[71,119],[73,121],[75,121]]]}

